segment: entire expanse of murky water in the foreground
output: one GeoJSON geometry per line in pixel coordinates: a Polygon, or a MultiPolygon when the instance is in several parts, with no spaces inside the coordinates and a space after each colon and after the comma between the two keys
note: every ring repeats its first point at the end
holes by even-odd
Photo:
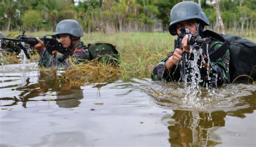
{"type": "Polygon", "coordinates": [[[59,86],[35,64],[0,66],[0,146],[256,146],[256,85],[192,93],[150,79],[59,86]]]}

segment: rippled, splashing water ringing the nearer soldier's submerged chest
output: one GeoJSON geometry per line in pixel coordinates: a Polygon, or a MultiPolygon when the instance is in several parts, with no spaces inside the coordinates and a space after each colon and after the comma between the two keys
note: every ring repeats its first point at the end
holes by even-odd
{"type": "Polygon", "coordinates": [[[215,111],[248,108],[256,92],[256,85],[228,84],[212,90],[212,93],[209,93],[205,87],[199,86],[201,95],[190,97],[188,95],[193,93],[193,90],[188,92],[184,90],[183,84],[177,85],[176,82],[155,81],[149,86],[157,93],[161,93],[156,95],[150,88],[146,89],[146,93],[161,107],[182,110],[215,111]]]}

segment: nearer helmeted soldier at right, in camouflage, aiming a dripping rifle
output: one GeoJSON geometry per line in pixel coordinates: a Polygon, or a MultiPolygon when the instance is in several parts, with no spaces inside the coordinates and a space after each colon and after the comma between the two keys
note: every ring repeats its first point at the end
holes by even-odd
{"type": "MultiPolygon", "coordinates": [[[[207,58],[207,52],[213,57],[213,60],[203,64],[201,68],[199,60],[198,67],[200,66],[200,85],[219,87],[224,83],[230,81],[230,75],[228,73],[230,55],[227,50],[227,45],[224,43],[225,39],[219,34],[212,32],[210,30],[205,30],[206,25],[210,25],[208,18],[206,17],[204,11],[195,2],[180,2],[173,6],[171,13],[171,23],[169,25],[169,32],[174,35],[181,34],[182,29],[188,29],[191,34],[196,34],[197,26],[199,25],[199,35],[200,38],[210,38],[211,42],[203,46],[203,58],[207,58]],[[218,50],[219,49],[219,50],[218,50]],[[215,52],[214,52],[215,51],[215,52]],[[217,53],[219,52],[219,53],[217,53]],[[210,76],[210,78],[208,78],[210,76]]],[[[156,67],[153,68],[151,74],[152,80],[164,80],[164,81],[179,81],[182,79],[182,68],[183,67],[180,59],[183,57],[183,53],[191,55],[191,45],[188,43],[188,34],[181,40],[181,47],[174,48],[174,52],[167,53],[165,59],[161,60],[156,67]]],[[[210,58],[211,59],[211,58],[210,58]]],[[[202,58],[200,60],[203,60],[202,58]]],[[[190,69],[185,69],[184,71],[191,71],[190,69]]],[[[184,79],[182,79],[184,80],[184,79]]]]}

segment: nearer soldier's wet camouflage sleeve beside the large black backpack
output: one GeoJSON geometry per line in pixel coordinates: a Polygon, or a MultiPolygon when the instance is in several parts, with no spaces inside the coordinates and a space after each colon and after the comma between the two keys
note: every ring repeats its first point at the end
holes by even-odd
{"type": "MultiPolygon", "coordinates": [[[[217,43],[215,44],[211,52],[219,48],[223,43],[217,43]]],[[[210,71],[203,71],[201,72],[203,74],[203,82],[201,82],[201,85],[205,86],[206,82],[210,82],[212,87],[219,87],[223,85],[224,83],[230,82],[230,74],[228,72],[229,67],[229,61],[230,61],[230,53],[227,50],[226,53],[218,58],[215,61],[210,62],[210,71]],[[210,79],[208,79],[207,72],[210,76],[210,79]]]]}

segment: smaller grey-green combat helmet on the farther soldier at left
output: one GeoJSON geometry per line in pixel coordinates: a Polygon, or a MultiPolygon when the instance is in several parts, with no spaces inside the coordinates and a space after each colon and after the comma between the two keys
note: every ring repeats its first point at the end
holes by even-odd
{"type": "Polygon", "coordinates": [[[55,35],[58,37],[59,34],[71,34],[75,37],[84,36],[82,27],[76,20],[72,19],[65,19],[57,24],[55,35]]]}

